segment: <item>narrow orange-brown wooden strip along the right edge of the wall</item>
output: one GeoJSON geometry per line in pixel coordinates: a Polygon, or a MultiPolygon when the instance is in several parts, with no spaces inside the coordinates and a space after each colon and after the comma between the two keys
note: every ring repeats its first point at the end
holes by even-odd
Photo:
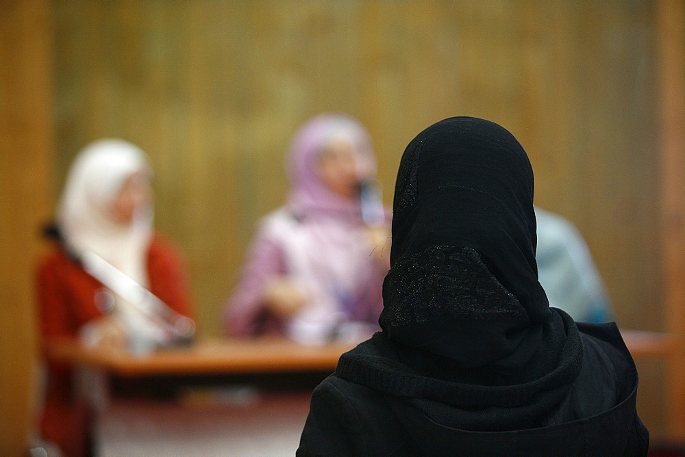
{"type": "Polygon", "coordinates": [[[667,358],[666,389],[669,436],[685,442],[685,8],[662,1],[658,24],[658,74],[660,101],[660,185],[662,272],[666,329],[675,336],[667,358]]]}

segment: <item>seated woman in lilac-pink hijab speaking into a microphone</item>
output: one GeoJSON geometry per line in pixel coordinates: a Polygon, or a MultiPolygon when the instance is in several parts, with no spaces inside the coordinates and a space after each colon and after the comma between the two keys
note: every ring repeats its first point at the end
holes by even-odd
{"type": "Polygon", "coordinates": [[[389,267],[382,204],[360,198],[375,177],[369,135],[347,116],[317,116],[295,135],[289,172],[288,202],[262,220],[225,328],[310,344],[355,337],[377,325],[389,267]]]}

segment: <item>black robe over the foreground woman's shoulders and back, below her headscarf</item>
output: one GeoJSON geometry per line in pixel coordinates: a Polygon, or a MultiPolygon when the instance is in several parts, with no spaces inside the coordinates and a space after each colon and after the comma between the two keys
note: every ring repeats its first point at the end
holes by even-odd
{"type": "MultiPolygon", "coordinates": [[[[528,417],[528,404],[476,409],[429,400],[434,379],[417,378],[398,360],[393,343],[377,333],[344,354],[336,373],[316,387],[297,455],[646,456],[649,432],[635,407],[638,375],[618,329],[614,324],[577,326],[580,371],[560,402],[527,419],[535,422],[530,428],[502,427],[503,417],[528,417]],[[347,379],[369,367],[376,376],[389,375],[394,384],[383,391],[347,379]],[[422,396],[416,384],[425,389],[422,396]],[[479,415],[479,430],[470,430],[464,415],[479,415]]],[[[458,391],[460,386],[453,387],[458,391]]],[[[473,389],[482,404],[492,395],[488,387],[480,393],[479,387],[473,389]]],[[[516,396],[523,389],[518,385],[505,391],[516,396]]],[[[536,395],[551,396],[545,391],[536,395]]]]}

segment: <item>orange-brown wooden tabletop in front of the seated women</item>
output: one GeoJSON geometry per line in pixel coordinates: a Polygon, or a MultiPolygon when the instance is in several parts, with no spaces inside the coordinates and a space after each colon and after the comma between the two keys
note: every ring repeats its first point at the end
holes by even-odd
{"type": "MultiPolygon", "coordinates": [[[[674,339],[654,332],[623,331],[625,343],[635,358],[669,354],[674,339]]],[[[122,350],[86,348],[78,341],[55,341],[49,345],[49,357],[104,369],[124,377],[286,373],[298,371],[334,371],[340,354],[354,343],[329,343],[306,346],[285,338],[201,339],[188,348],[160,350],[136,356],[122,350]]]]}

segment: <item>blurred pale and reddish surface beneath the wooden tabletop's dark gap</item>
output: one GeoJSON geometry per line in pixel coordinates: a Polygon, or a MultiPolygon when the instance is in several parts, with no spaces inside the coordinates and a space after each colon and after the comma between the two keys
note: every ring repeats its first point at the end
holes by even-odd
{"type": "Polygon", "coordinates": [[[116,400],[101,413],[98,456],[293,456],[311,393],[249,387],[170,401],[116,400]]]}

